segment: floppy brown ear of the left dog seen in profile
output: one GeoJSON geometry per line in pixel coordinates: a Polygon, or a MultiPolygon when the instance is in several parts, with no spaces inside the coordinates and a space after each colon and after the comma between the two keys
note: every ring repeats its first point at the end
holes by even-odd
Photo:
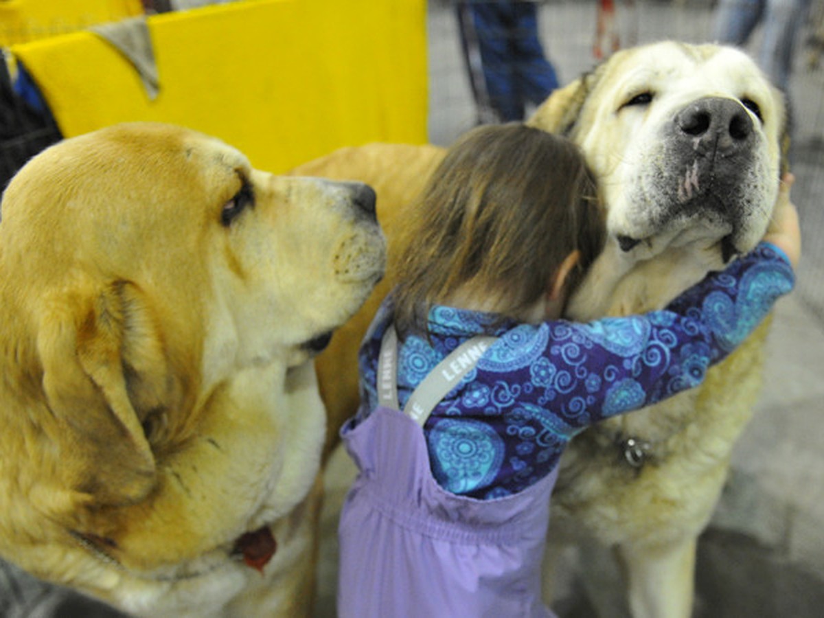
{"type": "Polygon", "coordinates": [[[161,405],[169,379],[159,337],[128,283],[61,296],[41,316],[37,344],[49,411],[63,428],[52,439],[65,451],[65,482],[99,505],[138,502],[156,466],[129,385],[161,405]]]}

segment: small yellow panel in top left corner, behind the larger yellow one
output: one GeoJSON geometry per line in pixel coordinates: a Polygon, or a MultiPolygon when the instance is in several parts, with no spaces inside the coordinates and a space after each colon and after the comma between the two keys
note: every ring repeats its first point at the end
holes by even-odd
{"type": "Polygon", "coordinates": [[[140,0],[0,0],[0,46],[138,15],[140,0]]]}

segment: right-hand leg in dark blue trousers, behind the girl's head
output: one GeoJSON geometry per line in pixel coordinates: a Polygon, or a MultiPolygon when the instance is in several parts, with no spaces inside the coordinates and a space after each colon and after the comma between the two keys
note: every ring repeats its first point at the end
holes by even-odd
{"type": "Polygon", "coordinates": [[[558,76],[541,44],[536,3],[515,2],[513,12],[516,21],[511,35],[517,91],[522,108],[527,102],[540,105],[558,87],[558,76]]]}

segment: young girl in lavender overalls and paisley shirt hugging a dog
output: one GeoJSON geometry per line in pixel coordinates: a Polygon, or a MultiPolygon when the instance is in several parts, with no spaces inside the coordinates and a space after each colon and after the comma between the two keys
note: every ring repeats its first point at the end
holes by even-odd
{"type": "MultiPolygon", "coordinates": [[[[779,206],[775,238],[797,257],[786,193],[779,206]]],[[[793,270],[761,243],[663,311],[561,321],[605,241],[595,183],[574,144],[520,124],[461,138],[410,212],[341,432],[359,475],[339,524],[339,616],[551,616],[541,557],[566,444],[699,384],[793,270]],[[716,319],[743,297],[746,315],[716,319]]]]}

